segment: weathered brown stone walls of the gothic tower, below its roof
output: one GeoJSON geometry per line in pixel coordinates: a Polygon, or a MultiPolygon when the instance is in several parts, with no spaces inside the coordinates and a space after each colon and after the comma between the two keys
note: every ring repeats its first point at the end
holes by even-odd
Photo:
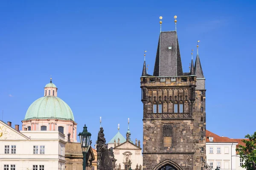
{"type": "Polygon", "coordinates": [[[141,79],[143,170],[153,170],[166,160],[182,170],[201,170],[206,159],[205,90],[195,90],[195,77],[176,77],[175,82],[170,77],[160,79],[163,78],[141,79]],[[159,104],[162,112],[158,112],[159,104]],[[179,113],[178,108],[175,113],[174,104],[183,104],[183,112],[179,113]],[[153,113],[153,105],[157,105],[157,113],[153,113]],[[170,140],[171,145],[164,147],[170,140]]]}

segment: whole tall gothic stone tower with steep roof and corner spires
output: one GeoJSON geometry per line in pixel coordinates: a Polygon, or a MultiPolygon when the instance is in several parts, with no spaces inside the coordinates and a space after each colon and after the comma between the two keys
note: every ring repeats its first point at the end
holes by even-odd
{"type": "Polygon", "coordinates": [[[183,73],[177,31],[160,33],[154,74],[140,78],[143,170],[201,170],[205,153],[205,78],[197,54],[183,73]]]}

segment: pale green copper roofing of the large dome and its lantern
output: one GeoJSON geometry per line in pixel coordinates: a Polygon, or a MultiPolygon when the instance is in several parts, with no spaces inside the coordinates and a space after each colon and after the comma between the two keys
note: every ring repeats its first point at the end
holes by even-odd
{"type": "MultiPolygon", "coordinates": [[[[54,85],[53,83],[49,84],[54,85]]],[[[47,87],[47,85],[45,87],[47,87]]],[[[54,87],[56,86],[54,85],[54,87]]],[[[63,100],[57,96],[44,96],[37,99],[29,106],[24,120],[29,119],[61,119],[74,121],[74,116],[70,107],[63,100]]]]}

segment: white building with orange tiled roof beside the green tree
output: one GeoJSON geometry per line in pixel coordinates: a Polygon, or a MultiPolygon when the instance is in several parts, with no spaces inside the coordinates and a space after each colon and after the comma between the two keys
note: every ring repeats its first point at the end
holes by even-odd
{"type": "Polygon", "coordinates": [[[207,163],[215,170],[218,166],[220,170],[245,170],[241,165],[239,155],[236,153],[236,147],[239,144],[237,140],[218,136],[206,130],[206,156],[207,163]]]}

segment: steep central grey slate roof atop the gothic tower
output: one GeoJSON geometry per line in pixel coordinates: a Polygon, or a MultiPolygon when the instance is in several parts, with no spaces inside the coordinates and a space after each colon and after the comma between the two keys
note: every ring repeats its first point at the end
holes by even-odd
{"type": "Polygon", "coordinates": [[[153,76],[183,76],[176,31],[160,33],[153,76]],[[169,50],[169,47],[172,47],[172,49],[169,50]]]}

